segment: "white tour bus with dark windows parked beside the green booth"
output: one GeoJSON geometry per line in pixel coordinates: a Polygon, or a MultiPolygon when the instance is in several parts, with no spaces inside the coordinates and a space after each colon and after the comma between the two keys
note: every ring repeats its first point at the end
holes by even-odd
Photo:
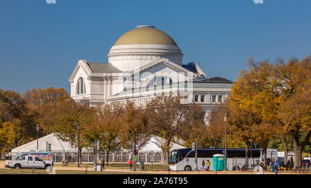
{"type": "MultiPolygon", "coordinates": [[[[174,149],[169,157],[169,169],[172,171],[194,171],[195,153],[191,148],[174,149]]],[[[202,160],[209,160],[209,171],[213,171],[213,156],[225,154],[225,149],[198,148],[198,170],[202,171],[202,160]]],[[[245,149],[227,149],[227,170],[258,170],[262,161],[261,149],[249,149],[248,166],[245,165],[245,149]]]]}

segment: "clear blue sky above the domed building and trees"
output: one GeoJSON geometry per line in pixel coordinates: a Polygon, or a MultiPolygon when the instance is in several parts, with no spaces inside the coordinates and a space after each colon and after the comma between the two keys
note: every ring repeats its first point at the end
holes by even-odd
{"type": "Polygon", "coordinates": [[[236,81],[246,61],[311,52],[310,0],[1,0],[0,88],[64,87],[79,59],[107,62],[136,25],[167,32],[208,77],[236,81]]]}

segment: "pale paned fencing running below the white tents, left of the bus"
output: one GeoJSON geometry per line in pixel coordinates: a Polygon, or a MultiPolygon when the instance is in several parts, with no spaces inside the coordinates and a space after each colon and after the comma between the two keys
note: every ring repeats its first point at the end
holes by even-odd
{"type": "MultiPolygon", "coordinates": [[[[54,163],[62,163],[63,161],[68,161],[68,163],[77,163],[77,153],[53,153],[53,161],[54,163]]],[[[81,161],[82,163],[94,163],[94,154],[90,153],[82,153],[81,161]]],[[[106,161],[107,154],[98,154],[97,160],[104,158],[106,161]]],[[[150,153],[141,153],[138,154],[138,163],[141,161],[144,163],[151,163],[151,158],[153,158],[153,163],[162,164],[166,161],[166,156],[162,153],[153,153],[151,156],[150,153]]],[[[117,154],[109,154],[108,161],[109,163],[128,163],[129,160],[133,160],[133,154],[129,153],[117,153],[117,154]]]]}

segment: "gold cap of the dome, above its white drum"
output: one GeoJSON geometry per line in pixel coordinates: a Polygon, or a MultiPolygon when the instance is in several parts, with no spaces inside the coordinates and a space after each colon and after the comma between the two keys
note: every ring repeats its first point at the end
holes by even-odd
{"type": "Polygon", "coordinates": [[[125,44],[166,44],[176,45],[171,36],[151,25],[138,25],[120,36],[114,45],[125,44]]]}

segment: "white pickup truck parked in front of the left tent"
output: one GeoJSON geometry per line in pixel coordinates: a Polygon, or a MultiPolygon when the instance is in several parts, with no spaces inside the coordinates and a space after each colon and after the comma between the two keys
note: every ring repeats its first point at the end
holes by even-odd
{"type": "Polygon", "coordinates": [[[39,156],[17,156],[15,160],[6,160],[7,168],[14,169],[46,169],[53,167],[53,162],[42,160],[39,156]]]}

